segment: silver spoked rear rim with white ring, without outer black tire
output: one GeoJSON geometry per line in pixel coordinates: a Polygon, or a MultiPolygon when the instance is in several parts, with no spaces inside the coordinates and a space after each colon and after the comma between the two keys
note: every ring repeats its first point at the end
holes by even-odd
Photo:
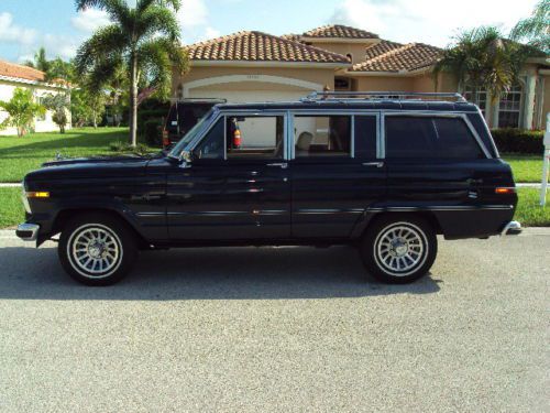
{"type": "Polygon", "coordinates": [[[395,276],[406,276],[421,267],[428,257],[424,231],[410,222],[395,222],[384,228],[374,242],[378,267],[395,276]]]}

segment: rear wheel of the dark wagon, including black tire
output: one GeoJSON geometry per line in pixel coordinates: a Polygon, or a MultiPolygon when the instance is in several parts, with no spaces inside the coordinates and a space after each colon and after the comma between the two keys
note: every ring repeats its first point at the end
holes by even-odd
{"type": "Polygon", "coordinates": [[[407,284],[429,272],[438,253],[438,239],[426,219],[391,214],[369,226],[360,252],[375,279],[407,284]]]}

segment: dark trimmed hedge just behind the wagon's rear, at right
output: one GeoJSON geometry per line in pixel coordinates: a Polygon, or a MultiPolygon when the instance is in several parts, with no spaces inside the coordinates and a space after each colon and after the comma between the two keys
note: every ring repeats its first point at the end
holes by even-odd
{"type": "Polygon", "coordinates": [[[529,131],[515,128],[493,129],[491,131],[499,152],[541,154],[544,150],[543,131],[529,131]]]}

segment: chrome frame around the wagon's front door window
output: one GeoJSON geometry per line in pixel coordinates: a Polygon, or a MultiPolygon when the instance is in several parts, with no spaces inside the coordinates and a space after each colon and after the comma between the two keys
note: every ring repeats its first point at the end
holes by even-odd
{"type": "MultiPolygon", "coordinates": [[[[220,119],[223,119],[223,161],[228,160],[228,128],[227,128],[227,119],[228,117],[232,116],[243,116],[243,117],[277,117],[282,116],[283,117],[283,157],[282,160],[288,161],[288,154],[287,154],[287,143],[288,143],[288,110],[280,110],[280,109],[239,109],[239,110],[219,110],[219,113],[212,118],[212,121],[208,123],[208,126],[205,126],[205,129],[201,133],[198,133],[197,137],[189,142],[188,145],[188,151],[193,152],[197,146],[202,142],[202,140],[210,133],[210,131],[213,129],[216,123],[220,119]]],[[[258,157],[258,160],[262,160],[258,157]]]]}

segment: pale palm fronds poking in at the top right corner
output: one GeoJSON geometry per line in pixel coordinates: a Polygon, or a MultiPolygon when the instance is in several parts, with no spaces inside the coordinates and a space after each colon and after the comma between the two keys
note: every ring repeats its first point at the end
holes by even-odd
{"type": "Polygon", "coordinates": [[[510,37],[516,41],[528,41],[531,46],[550,53],[550,0],[539,1],[531,17],[516,24],[510,37]]]}

